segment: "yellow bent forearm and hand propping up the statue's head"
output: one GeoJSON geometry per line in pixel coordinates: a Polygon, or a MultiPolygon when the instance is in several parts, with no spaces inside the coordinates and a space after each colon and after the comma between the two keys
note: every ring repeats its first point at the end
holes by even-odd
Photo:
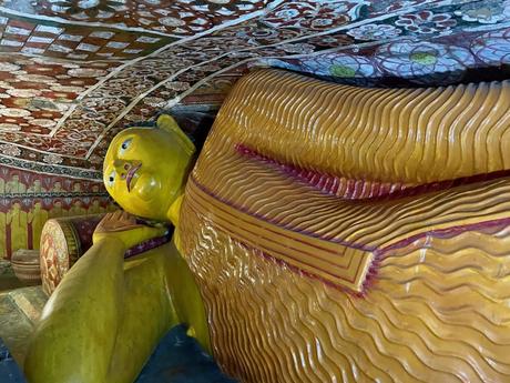
{"type": "Polygon", "coordinates": [[[161,234],[123,212],[103,219],[44,308],[24,364],[30,383],[105,382],[121,323],[124,253],[161,234]]]}

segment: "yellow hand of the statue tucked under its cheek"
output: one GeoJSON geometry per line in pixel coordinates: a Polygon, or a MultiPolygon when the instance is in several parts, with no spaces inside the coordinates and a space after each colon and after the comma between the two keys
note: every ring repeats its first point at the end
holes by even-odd
{"type": "Polygon", "coordinates": [[[152,228],[136,222],[136,219],[119,210],[106,214],[95,228],[92,240],[94,243],[105,239],[114,238],[122,241],[126,249],[153,238],[165,235],[166,228],[152,228]]]}

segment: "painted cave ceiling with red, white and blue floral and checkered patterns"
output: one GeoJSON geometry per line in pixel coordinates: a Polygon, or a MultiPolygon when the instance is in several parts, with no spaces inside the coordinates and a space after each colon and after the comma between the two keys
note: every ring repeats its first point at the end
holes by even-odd
{"type": "Polygon", "coordinates": [[[504,79],[510,0],[3,0],[0,162],[96,180],[111,138],[249,68],[359,85],[504,79]]]}

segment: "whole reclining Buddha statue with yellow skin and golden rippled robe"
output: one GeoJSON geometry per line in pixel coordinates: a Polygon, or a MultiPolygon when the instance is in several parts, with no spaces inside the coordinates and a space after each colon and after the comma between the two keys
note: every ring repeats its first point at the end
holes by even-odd
{"type": "Polygon", "coordinates": [[[104,161],[124,212],[47,304],[31,383],[133,382],[184,323],[228,375],[510,380],[510,82],[363,89],[237,82],[204,148],[170,117],[104,161]],[[78,362],[76,362],[78,361],[78,362]]]}

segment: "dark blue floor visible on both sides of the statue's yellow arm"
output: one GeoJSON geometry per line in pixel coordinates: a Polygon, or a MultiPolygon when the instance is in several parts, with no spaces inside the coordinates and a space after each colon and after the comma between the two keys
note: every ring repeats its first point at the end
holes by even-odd
{"type": "MultiPolygon", "coordinates": [[[[20,369],[0,340],[0,382],[26,383],[20,369]]],[[[223,375],[214,360],[186,335],[173,327],[161,340],[135,383],[235,383],[223,375]]]]}

